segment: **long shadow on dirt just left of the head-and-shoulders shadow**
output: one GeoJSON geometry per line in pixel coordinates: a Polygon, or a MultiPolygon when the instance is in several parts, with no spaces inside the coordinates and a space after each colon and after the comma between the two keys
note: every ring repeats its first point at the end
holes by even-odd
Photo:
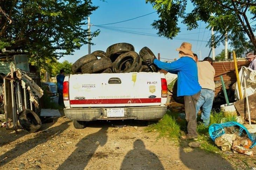
{"type": "Polygon", "coordinates": [[[95,155],[95,151],[100,146],[107,143],[108,127],[102,127],[98,132],[89,134],[76,144],[76,149],[63,162],[58,170],[85,169],[90,159],[95,155]],[[99,142],[99,145],[96,142],[99,142]]]}

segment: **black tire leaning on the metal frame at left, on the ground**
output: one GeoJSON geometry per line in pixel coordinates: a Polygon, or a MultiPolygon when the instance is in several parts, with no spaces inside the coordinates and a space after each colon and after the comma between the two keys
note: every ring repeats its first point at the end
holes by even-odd
{"type": "Polygon", "coordinates": [[[30,133],[39,131],[42,126],[39,116],[30,109],[20,112],[18,119],[20,125],[30,133]]]}

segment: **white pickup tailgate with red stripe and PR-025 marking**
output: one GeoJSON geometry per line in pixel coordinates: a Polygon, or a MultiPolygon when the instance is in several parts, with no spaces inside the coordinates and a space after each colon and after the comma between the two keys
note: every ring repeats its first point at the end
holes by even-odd
{"type": "Polygon", "coordinates": [[[70,75],[70,107],[161,105],[160,74],[139,72],[70,75]]]}

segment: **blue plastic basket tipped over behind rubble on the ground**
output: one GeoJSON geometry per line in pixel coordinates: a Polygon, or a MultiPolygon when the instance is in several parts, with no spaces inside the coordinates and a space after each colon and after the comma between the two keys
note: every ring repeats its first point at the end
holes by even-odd
{"type": "Polygon", "coordinates": [[[243,125],[235,121],[229,121],[221,124],[212,124],[209,127],[209,135],[211,139],[215,141],[216,138],[226,133],[224,130],[224,127],[230,127],[230,126],[239,127],[240,136],[242,136],[243,134],[248,135],[248,138],[252,141],[252,145],[250,146],[250,148],[253,148],[256,145],[256,135],[249,133],[247,128],[245,128],[243,125]]]}

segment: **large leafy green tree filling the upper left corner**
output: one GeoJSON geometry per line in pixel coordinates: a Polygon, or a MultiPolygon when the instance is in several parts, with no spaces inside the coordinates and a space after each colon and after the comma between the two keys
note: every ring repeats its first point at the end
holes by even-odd
{"type": "Polygon", "coordinates": [[[1,0],[0,49],[28,52],[42,67],[88,43],[85,21],[97,8],[91,0],[1,0]]]}

